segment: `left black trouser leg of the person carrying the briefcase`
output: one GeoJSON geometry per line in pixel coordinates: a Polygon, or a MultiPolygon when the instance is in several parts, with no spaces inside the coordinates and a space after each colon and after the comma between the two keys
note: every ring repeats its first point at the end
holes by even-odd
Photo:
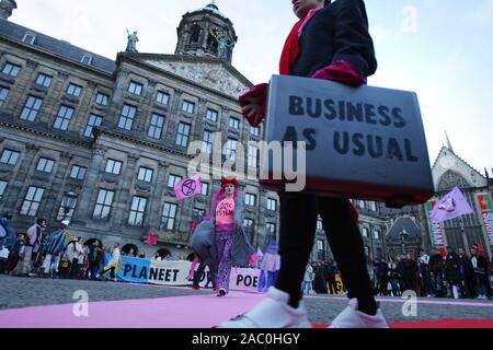
{"type": "Polygon", "coordinates": [[[301,281],[307,267],[317,226],[317,198],[310,195],[279,194],[280,270],[276,288],[289,293],[289,305],[298,307],[301,281]]]}

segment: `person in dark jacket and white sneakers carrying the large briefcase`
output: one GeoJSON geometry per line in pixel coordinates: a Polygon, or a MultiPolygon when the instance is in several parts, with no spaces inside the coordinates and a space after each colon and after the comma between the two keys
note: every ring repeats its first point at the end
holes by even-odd
{"type": "MultiPolygon", "coordinates": [[[[377,70],[377,60],[363,0],[291,0],[299,21],[293,27],[280,57],[280,74],[336,80],[355,86],[377,70]]],[[[252,88],[240,97],[243,116],[252,126],[265,117],[267,84],[252,88]]],[[[275,290],[242,317],[223,327],[308,326],[301,303],[301,281],[313,247],[318,214],[344,279],[349,306],[332,322],[333,327],[387,327],[372,295],[364,243],[348,199],[286,192],[280,198],[280,270],[275,290]],[[302,218],[300,220],[299,218],[302,218]],[[287,303],[285,300],[287,299],[287,303]],[[282,300],[282,302],[280,302],[282,300]],[[277,310],[274,310],[276,308],[277,310]],[[286,311],[282,313],[282,311],[286,311]],[[358,314],[357,312],[360,312],[358,314]],[[271,314],[300,315],[265,323],[271,314]],[[352,320],[347,315],[353,315],[352,320]],[[366,314],[367,317],[362,316],[366,314]],[[356,319],[362,320],[356,324],[356,319]]],[[[280,316],[279,316],[280,317],[280,316]]],[[[277,319],[277,318],[276,318],[277,319]]]]}

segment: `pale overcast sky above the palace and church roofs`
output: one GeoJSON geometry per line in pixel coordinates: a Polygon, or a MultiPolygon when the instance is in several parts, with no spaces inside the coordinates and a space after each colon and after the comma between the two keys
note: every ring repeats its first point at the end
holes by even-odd
{"type": "MultiPolygon", "coordinates": [[[[493,167],[493,0],[367,0],[379,70],[375,86],[415,91],[431,162],[448,132],[481,174],[493,167]]],[[[10,21],[116,58],[126,28],[139,52],[174,54],[182,15],[209,0],[16,0],[10,21]]],[[[217,0],[239,37],[232,65],[252,83],[278,71],[296,18],[290,0],[217,0]]]]}

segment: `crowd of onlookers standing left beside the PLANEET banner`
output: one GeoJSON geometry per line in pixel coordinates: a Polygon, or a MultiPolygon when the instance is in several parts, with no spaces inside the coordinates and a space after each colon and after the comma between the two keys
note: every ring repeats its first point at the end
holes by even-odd
{"type": "MultiPolygon", "coordinates": [[[[103,246],[96,238],[82,242],[70,234],[70,222],[64,220],[60,228],[47,232],[46,220],[38,218],[26,234],[15,233],[11,226],[12,211],[0,219],[0,273],[18,277],[46,277],[79,280],[116,281],[115,269],[122,256],[146,258],[144,249],[122,249],[119,244],[103,246]],[[105,261],[105,254],[110,259],[105,261]]],[[[167,256],[156,254],[153,259],[167,256]]]]}

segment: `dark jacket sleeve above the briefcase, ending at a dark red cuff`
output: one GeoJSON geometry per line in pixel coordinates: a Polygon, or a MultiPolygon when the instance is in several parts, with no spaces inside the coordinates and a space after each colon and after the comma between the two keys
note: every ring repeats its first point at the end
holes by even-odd
{"type": "Polygon", "coordinates": [[[333,62],[344,60],[356,66],[364,77],[377,70],[375,48],[368,32],[368,18],[363,0],[344,0],[335,24],[336,51],[333,62]]]}

